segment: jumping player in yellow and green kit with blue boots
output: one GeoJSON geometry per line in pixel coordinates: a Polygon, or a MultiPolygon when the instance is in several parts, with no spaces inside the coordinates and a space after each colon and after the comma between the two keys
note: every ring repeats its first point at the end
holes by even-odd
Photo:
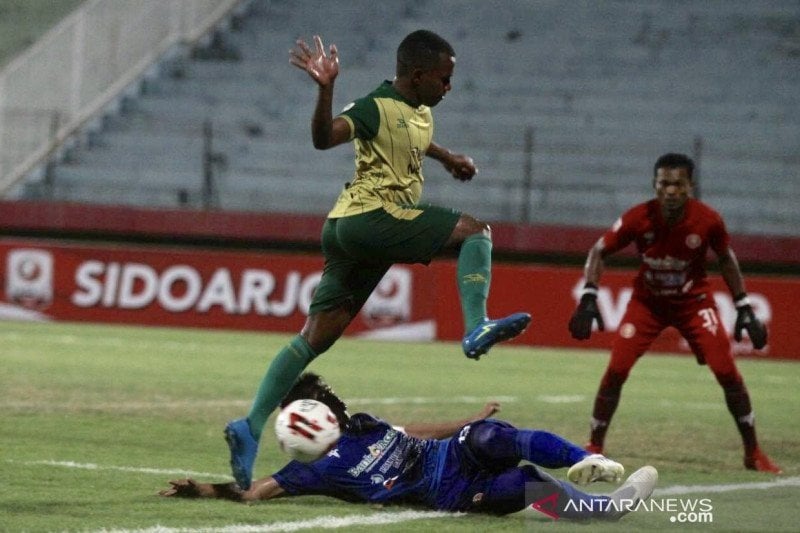
{"type": "Polygon", "coordinates": [[[460,247],[457,276],[466,332],[462,347],[471,359],[516,337],[531,321],[528,313],[497,320],[486,316],[489,226],[453,209],[418,204],[425,156],[461,181],[477,173],[471,158],[432,141],[430,108],[451,89],[452,46],[427,30],[409,34],[397,49],[394,80],[384,81],[336,117],[336,46],[326,54],[319,36],[314,37],[313,50],[298,40],[290,62],[318,85],[311,119],[314,147],[326,150],[352,141],[356,169],[322,229],[325,267],[303,329],[270,363],[247,417],[225,427],[233,476],[244,490],[250,487],[258,441],[270,413],[303,369],[341,337],[392,264],[427,264],[442,250],[460,247]]]}

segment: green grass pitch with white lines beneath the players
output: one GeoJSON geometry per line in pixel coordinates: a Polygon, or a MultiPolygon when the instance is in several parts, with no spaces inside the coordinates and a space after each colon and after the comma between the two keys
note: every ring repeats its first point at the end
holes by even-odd
{"type": "MultiPolygon", "coordinates": [[[[678,506],[705,499],[710,522],[674,510],[587,526],[535,511],[439,516],[323,497],[252,505],[158,497],[169,479],[229,479],[222,428],[246,414],[269,359],[288,338],[0,322],[0,530],[294,531],[333,526],[334,517],[347,531],[797,530],[800,364],[758,360],[739,366],[762,447],[783,476],[744,470],[722,391],[693,358],[642,358],[609,432],[610,457],[629,472],[656,466],[665,491],[656,497],[678,506]]],[[[606,352],[503,346],[474,362],[457,344],[342,339],[310,369],[351,411],[394,423],[462,418],[499,399],[501,418],[582,444],[606,362],[606,352]]],[[[268,429],[256,475],[284,459],[268,429]]]]}

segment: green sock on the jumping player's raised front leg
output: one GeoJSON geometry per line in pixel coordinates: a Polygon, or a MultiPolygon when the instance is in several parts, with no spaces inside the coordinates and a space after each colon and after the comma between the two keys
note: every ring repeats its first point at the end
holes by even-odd
{"type": "Polygon", "coordinates": [[[486,299],[492,280],[492,240],[489,237],[478,233],[464,239],[456,275],[464,330],[469,333],[486,318],[486,299]]]}

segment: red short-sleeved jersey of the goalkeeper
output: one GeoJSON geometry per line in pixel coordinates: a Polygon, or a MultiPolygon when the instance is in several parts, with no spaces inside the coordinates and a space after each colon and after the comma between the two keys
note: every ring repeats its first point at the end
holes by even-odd
{"type": "Polygon", "coordinates": [[[653,199],[626,211],[603,235],[609,253],[632,242],[642,260],[634,296],[681,297],[708,290],[708,249],[723,253],[730,235],[720,214],[698,200],[689,198],[681,221],[669,226],[653,199]]]}

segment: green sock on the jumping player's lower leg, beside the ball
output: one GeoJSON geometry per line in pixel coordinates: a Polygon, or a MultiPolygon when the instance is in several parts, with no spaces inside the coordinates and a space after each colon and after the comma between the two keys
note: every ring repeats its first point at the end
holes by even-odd
{"type": "Polygon", "coordinates": [[[295,336],[288,345],[278,352],[269,365],[267,373],[258,386],[253,406],[247,415],[250,431],[256,440],[261,439],[261,432],[267,418],[280,405],[281,400],[291,390],[306,366],[317,356],[313,348],[300,335],[295,336]]]}

